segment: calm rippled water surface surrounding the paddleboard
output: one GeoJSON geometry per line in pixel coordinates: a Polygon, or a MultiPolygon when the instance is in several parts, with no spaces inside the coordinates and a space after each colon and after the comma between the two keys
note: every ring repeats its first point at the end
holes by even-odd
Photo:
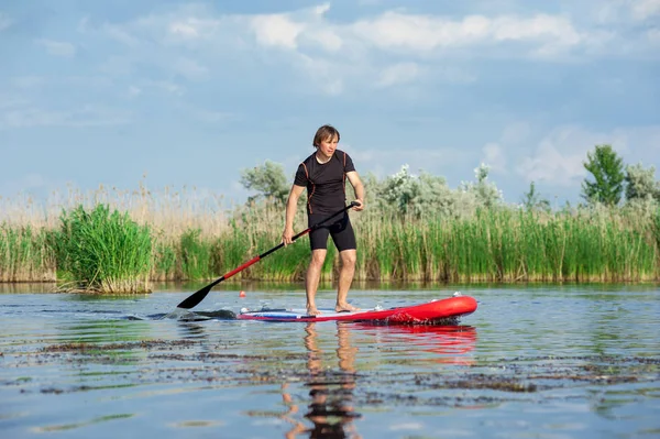
{"type": "MultiPolygon", "coordinates": [[[[397,306],[460,289],[479,309],[455,327],[227,318],[304,301],[267,287],[212,292],[178,318],[195,287],[0,288],[3,438],[660,437],[657,285],[350,295],[397,306]]],[[[332,299],[319,293],[319,306],[332,299]]]]}

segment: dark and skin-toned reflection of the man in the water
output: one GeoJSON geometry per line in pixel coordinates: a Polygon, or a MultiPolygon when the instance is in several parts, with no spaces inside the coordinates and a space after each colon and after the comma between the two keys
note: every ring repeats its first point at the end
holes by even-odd
{"type": "MultiPolygon", "coordinates": [[[[337,323],[337,339],[339,345],[337,354],[339,358],[339,375],[340,383],[337,383],[337,374],[332,374],[331,382],[323,373],[322,367],[322,351],[318,348],[318,337],[315,328],[316,323],[308,323],[305,328],[305,347],[307,348],[307,369],[310,373],[308,382],[309,395],[311,403],[309,411],[305,415],[306,418],[314,422],[314,428],[305,429],[299,421],[294,421],[295,427],[287,432],[287,438],[308,432],[310,438],[345,438],[346,430],[350,430],[351,437],[359,437],[354,431],[353,419],[360,417],[351,405],[353,399],[353,389],[355,388],[355,352],[356,348],[350,344],[350,329],[339,322],[337,323]]],[[[283,388],[286,387],[286,384],[283,388]]],[[[297,413],[297,406],[292,402],[290,395],[284,394],[285,404],[289,406],[289,413],[297,413]]],[[[287,415],[288,415],[287,414],[287,415]]],[[[290,421],[293,421],[289,418],[290,421]]]]}

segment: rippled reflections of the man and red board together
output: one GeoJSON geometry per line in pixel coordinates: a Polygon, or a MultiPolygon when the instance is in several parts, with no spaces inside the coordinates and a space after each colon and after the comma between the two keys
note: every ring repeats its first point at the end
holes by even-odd
{"type": "MultiPolygon", "coordinates": [[[[393,351],[393,358],[385,362],[421,364],[471,365],[474,363],[472,352],[476,344],[476,329],[470,326],[398,326],[370,325],[364,322],[338,322],[336,356],[339,370],[327,363],[328,356],[319,347],[317,325],[308,323],[305,328],[305,348],[307,351],[307,370],[309,378],[309,403],[304,415],[312,424],[308,428],[304,422],[293,418],[298,414],[298,406],[288,393],[288,383],[283,385],[283,399],[288,407],[284,416],[294,427],[285,435],[295,438],[307,435],[310,438],[359,438],[354,420],[362,415],[355,410],[354,398],[358,389],[359,367],[356,365],[358,348],[352,337],[359,337],[355,344],[378,345],[384,351],[393,351]],[[363,340],[364,338],[367,340],[363,340]],[[323,363],[323,359],[326,363],[323,363]]],[[[322,323],[321,323],[322,325],[322,323]]],[[[322,331],[327,327],[322,327],[322,331]]],[[[370,358],[370,353],[364,353],[370,358]]],[[[383,363],[381,363],[383,365],[383,363]]]]}

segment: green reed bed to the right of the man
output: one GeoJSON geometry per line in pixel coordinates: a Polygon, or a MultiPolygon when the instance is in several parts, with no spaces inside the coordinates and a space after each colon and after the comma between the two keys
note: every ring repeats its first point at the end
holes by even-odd
{"type": "Polygon", "coordinates": [[[381,281],[657,279],[660,227],[653,224],[660,220],[608,215],[493,208],[466,219],[370,218],[356,229],[359,245],[376,261],[376,270],[359,273],[381,281]]]}

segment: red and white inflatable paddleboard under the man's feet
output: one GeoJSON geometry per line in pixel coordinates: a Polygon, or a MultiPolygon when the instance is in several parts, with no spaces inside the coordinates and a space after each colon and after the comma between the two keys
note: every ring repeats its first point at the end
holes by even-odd
{"type": "Polygon", "coordinates": [[[374,321],[382,323],[432,325],[443,320],[466,316],[476,310],[476,300],[470,296],[455,294],[453,297],[436,299],[424,304],[394,308],[375,307],[358,311],[337,312],[332,309],[319,309],[318,316],[309,316],[307,309],[241,309],[237,316],[241,320],[267,321],[374,321]]]}

